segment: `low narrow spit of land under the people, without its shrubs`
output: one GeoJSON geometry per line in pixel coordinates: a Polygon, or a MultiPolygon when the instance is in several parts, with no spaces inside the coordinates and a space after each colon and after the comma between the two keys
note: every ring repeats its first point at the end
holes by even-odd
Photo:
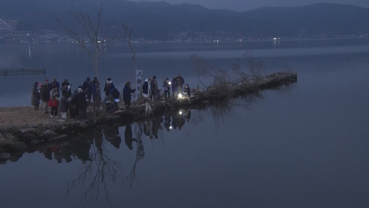
{"type": "Polygon", "coordinates": [[[124,103],[118,103],[119,111],[110,114],[103,110],[93,111],[89,107],[89,118],[86,120],[66,121],[50,118],[48,114],[34,111],[32,107],[0,108],[0,146],[24,144],[38,144],[40,141],[66,138],[68,135],[78,134],[101,125],[132,124],[152,117],[162,115],[167,111],[185,107],[187,109],[203,108],[207,102],[237,98],[245,94],[255,94],[261,90],[275,89],[297,82],[297,74],[278,73],[260,79],[239,81],[226,85],[217,85],[205,90],[193,90],[191,97],[175,98],[169,102],[152,102],[149,104],[132,103],[130,111],[124,110],[124,103]],[[148,106],[149,105],[149,106],[148,106]],[[148,111],[148,108],[150,109],[148,111]]]}

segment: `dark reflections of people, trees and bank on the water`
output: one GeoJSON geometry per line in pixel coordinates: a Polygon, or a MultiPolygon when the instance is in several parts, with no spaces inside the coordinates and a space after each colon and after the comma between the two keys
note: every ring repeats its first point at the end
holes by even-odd
{"type": "MultiPolygon", "coordinates": [[[[277,90],[277,93],[284,94],[290,88],[291,86],[286,90],[286,87],[282,87],[277,90]]],[[[218,130],[221,124],[239,119],[236,109],[242,107],[252,110],[262,98],[262,94],[256,93],[232,100],[203,103],[191,108],[173,108],[163,115],[156,115],[139,123],[96,128],[86,134],[75,135],[61,144],[46,144],[44,147],[35,149],[34,152],[40,152],[51,162],[80,161],[82,167],[79,168],[77,177],[68,182],[66,195],[75,195],[77,186],[87,185],[87,189],[81,195],[81,203],[86,206],[92,204],[93,200],[104,198],[106,205],[111,207],[109,185],[123,183],[129,189],[139,185],[137,167],[145,158],[144,143],[154,145],[155,141],[162,141],[165,145],[165,132],[182,131],[189,134],[185,129],[186,125],[202,123],[209,116],[214,120],[215,130],[218,130]],[[124,148],[120,148],[123,138],[119,127],[124,129],[124,148]],[[124,169],[120,162],[110,158],[108,153],[112,146],[120,151],[136,151],[133,166],[124,169]]],[[[12,155],[10,161],[18,161],[20,157],[22,154],[12,155]]]]}

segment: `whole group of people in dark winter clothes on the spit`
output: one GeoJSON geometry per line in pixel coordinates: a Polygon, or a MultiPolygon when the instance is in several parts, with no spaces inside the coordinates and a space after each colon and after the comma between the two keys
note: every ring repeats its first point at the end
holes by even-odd
{"type": "MultiPolygon", "coordinates": [[[[178,74],[177,77],[173,77],[172,81],[166,78],[162,85],[165,100],[167,100],[167,97],[170,99],[170,87],[172,87],[173,95],[176,95],[182,93],[183,85],[184,79],[180,74],[178,74]]],[[[131,88],[131,83],[129,81],[124,85],[123,101],[126,110],[130,109],[131,93],[135,91],[136,89],[131,88]]],[[[58,118],[58,112],[61,113],[62,119],[66,119],[68,112],[72,118],[85,118],[87,107],[92,100],[94,103],[101,103],[100,83],[97,77],[94,77],[93,80],[87,77],[83,84],[79,85],[74,91],[72,91],[72,84],[69,83],[68,79],[65,79],[60,85],[59,82],[56,81],[56,78],[53,77],[51,83],[49,83],[47,79],[45,79],[43,84],[35,82],[34,85],[32,85],[31,92],[31,104],[34,105],[34,110],[39,110],[38,108],[41,100],[44,114],[49,114],[48,109],[51,108],[51,118],[58,118]]],[[[106,97],[103,100],[103,104],[106,112],[118,110],[118,101],[121,95],[118,89],[115,88],[111,78],[106,80],[104,92],[106,97]]],[[[184,97],[190,97],[191,90],[188,84],[185,85],[183,93],[184,97]]],[[[146,101],[148,99],[154,99],[156,101],[161,99],[156,76],[152,79],[148,78],[145,80],[142,85],[142,95],[146,101]]]]}

